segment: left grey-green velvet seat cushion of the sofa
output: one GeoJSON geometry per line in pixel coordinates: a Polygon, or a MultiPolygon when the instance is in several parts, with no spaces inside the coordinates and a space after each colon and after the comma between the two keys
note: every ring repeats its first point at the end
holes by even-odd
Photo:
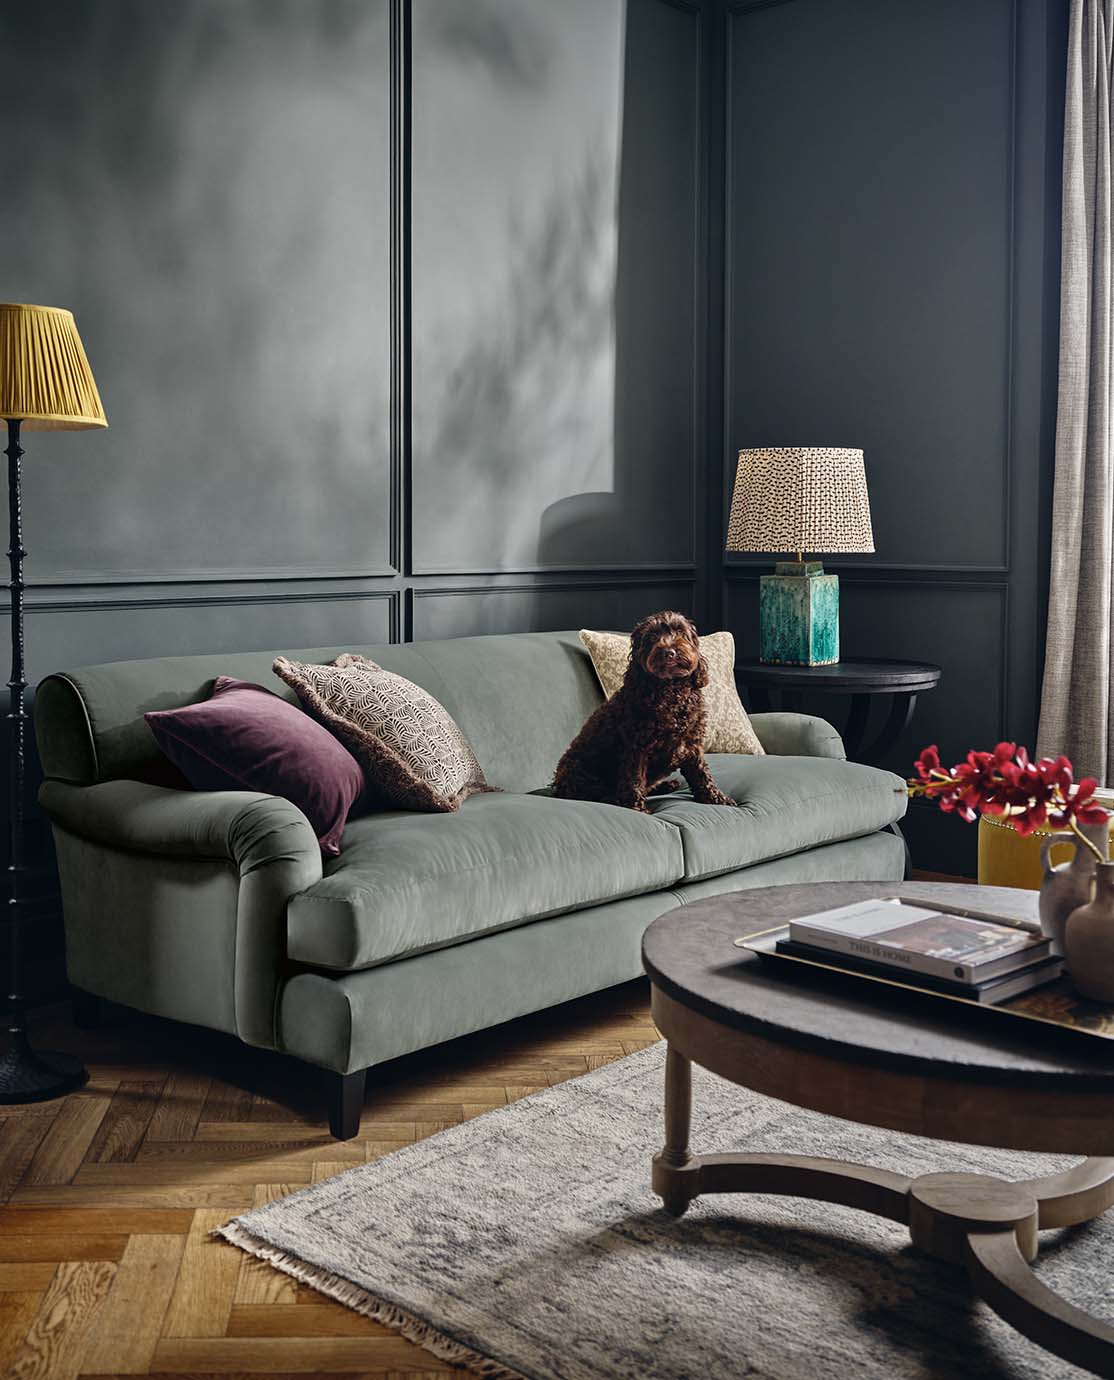
{"type": "Polygon", "coordinates": [[[500,792],[454,814],[389,810],[352,820],[341,856],[293,897],[287,952],[351,972],[683,875],[681,832],[613,805],[500,792]]]}

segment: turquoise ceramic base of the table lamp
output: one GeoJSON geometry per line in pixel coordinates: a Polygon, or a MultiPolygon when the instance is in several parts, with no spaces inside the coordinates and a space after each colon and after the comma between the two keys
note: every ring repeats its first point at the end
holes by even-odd
{"type": "Polygon", "coordinates": [[[819,560],[779,560],[759,581],[759,656],[788,667],[839,660],[839,575],[819,560]]]}

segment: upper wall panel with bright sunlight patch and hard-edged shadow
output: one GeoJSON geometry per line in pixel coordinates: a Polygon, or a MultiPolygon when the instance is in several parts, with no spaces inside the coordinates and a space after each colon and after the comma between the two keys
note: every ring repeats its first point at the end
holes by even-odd
{"type": "Polygon", "coordinates": [[[413,12],[414,570],[692,566],[698,14],[413,12]]]}

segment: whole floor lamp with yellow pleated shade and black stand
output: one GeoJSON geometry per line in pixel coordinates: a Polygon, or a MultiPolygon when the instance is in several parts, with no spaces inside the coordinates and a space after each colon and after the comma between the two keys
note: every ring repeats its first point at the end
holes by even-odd
{"type": "Polygon", "coordinates": [[[11,679],[8,680],[8,1046],[0,1058],[0,1103],[41,1103],[84,1083],[69,1054],[36,1052],[28,1039],[21,992],[25,905],[23,747],[28,687],[23,667],[23,513],[19,495],[22,431],[108,426],[73,313],[59,306],[0,302],[0,418],[8,424],[8,563],[11,580],[11,679]]]}

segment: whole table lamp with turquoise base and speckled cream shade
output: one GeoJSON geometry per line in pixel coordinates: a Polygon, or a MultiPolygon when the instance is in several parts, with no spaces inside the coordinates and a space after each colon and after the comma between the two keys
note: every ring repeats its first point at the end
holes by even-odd
{"type": "Polygon", "coordinates": [[[762,575],[759,657],[794,667],[839,660],[839,577],[808,552],[874,551],[861,450],[768,446],[740,450],[727,551],[784,551],[762,575]]]}

